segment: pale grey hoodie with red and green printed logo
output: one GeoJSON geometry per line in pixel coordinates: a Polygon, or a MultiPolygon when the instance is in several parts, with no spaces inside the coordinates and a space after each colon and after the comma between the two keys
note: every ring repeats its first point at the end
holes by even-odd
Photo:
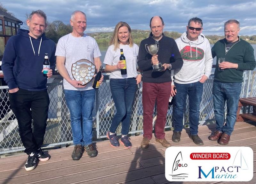
{"type": "Polygon", "coordinates": [[[187,38],[187,32],[184,32],[175,41],[183,59],[183,66],[172,72],[174,82],[189,84],[199,81],[203,75],[209,78],[212,71],[212,51],[209,40],[201,33],[197,40],[190,41],[187,38]]]}

